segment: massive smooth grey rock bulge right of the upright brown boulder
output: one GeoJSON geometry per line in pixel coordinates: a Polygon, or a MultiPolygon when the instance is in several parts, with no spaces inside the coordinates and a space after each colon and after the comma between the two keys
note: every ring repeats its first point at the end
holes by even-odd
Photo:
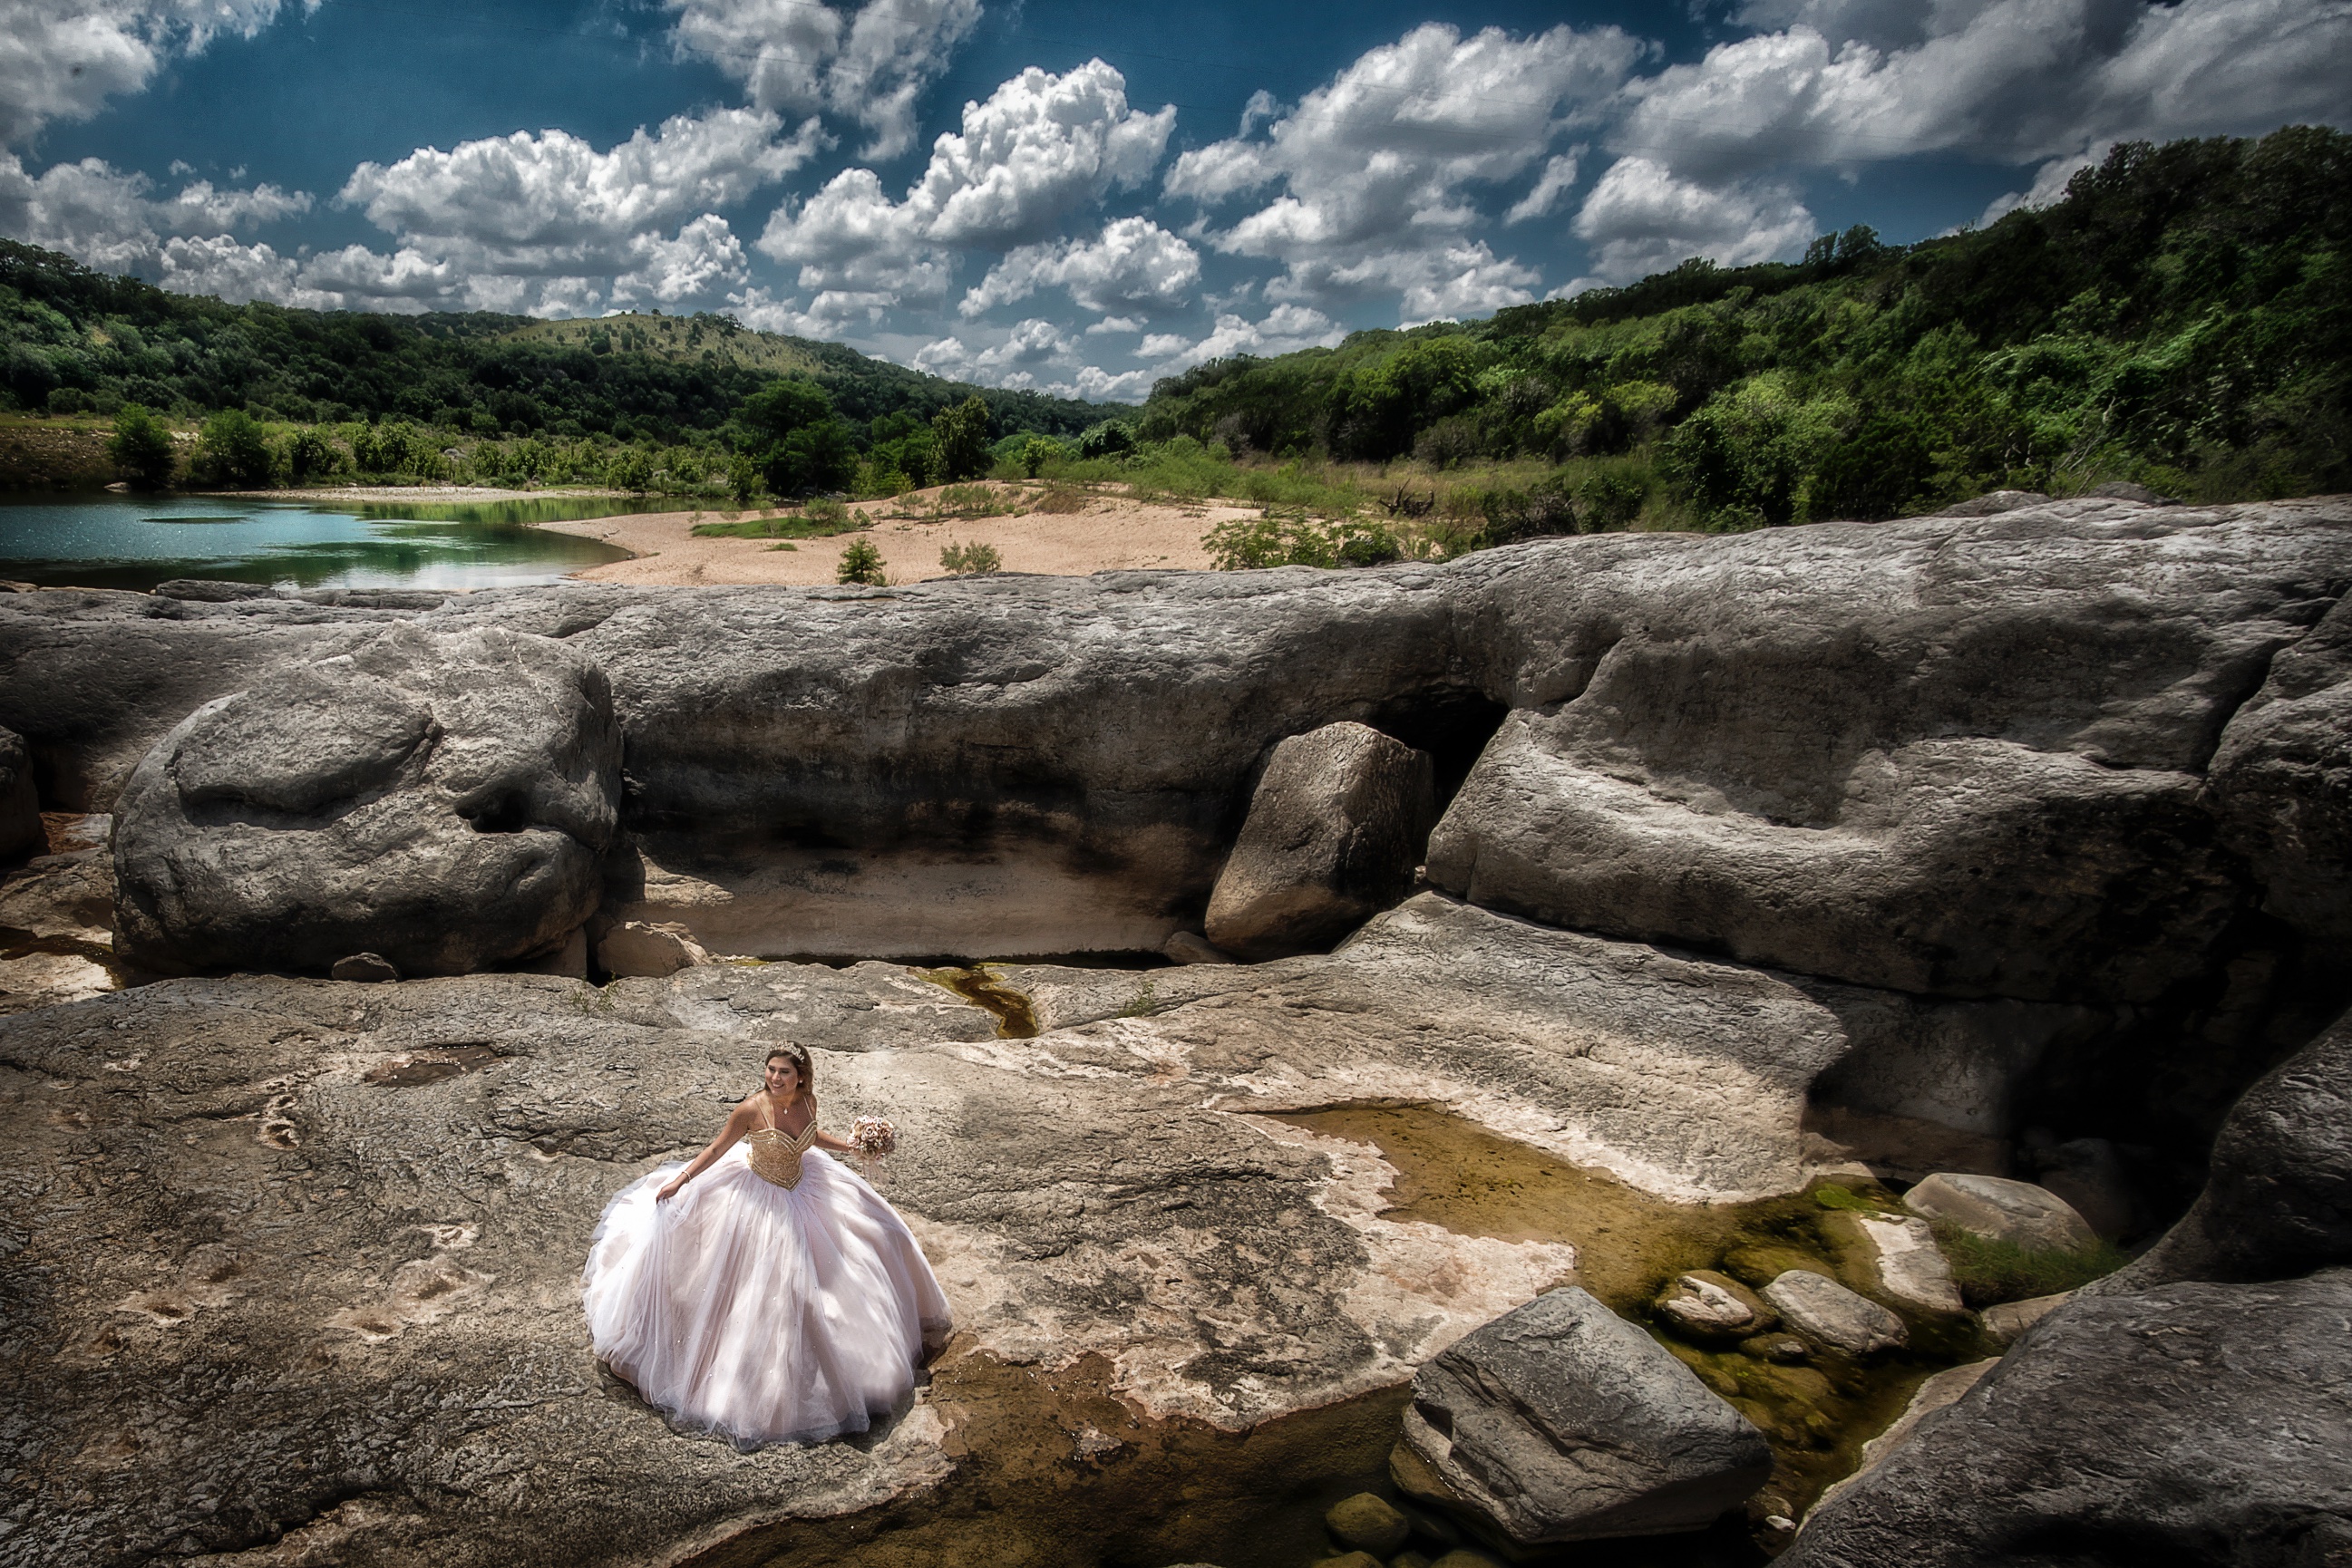
{"type": "Polygon", "coordinates": [[[2347,522],[2060,501],[1489,569],[1517,712],[1428,877],[1860,985],[2152,999],[2244,898],[2204,769],[2347,522]]]}

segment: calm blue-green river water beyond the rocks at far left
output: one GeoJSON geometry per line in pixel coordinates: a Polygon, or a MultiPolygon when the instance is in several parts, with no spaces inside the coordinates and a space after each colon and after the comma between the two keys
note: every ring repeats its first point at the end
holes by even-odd
{"type": "Polygon", "coordinates": [[[588,496],[42,496],[0,503],[0,578],[132,590],[191,576],[275,588],[520,588],[626,557],[534,524],[673,508],[588,496]]]}

